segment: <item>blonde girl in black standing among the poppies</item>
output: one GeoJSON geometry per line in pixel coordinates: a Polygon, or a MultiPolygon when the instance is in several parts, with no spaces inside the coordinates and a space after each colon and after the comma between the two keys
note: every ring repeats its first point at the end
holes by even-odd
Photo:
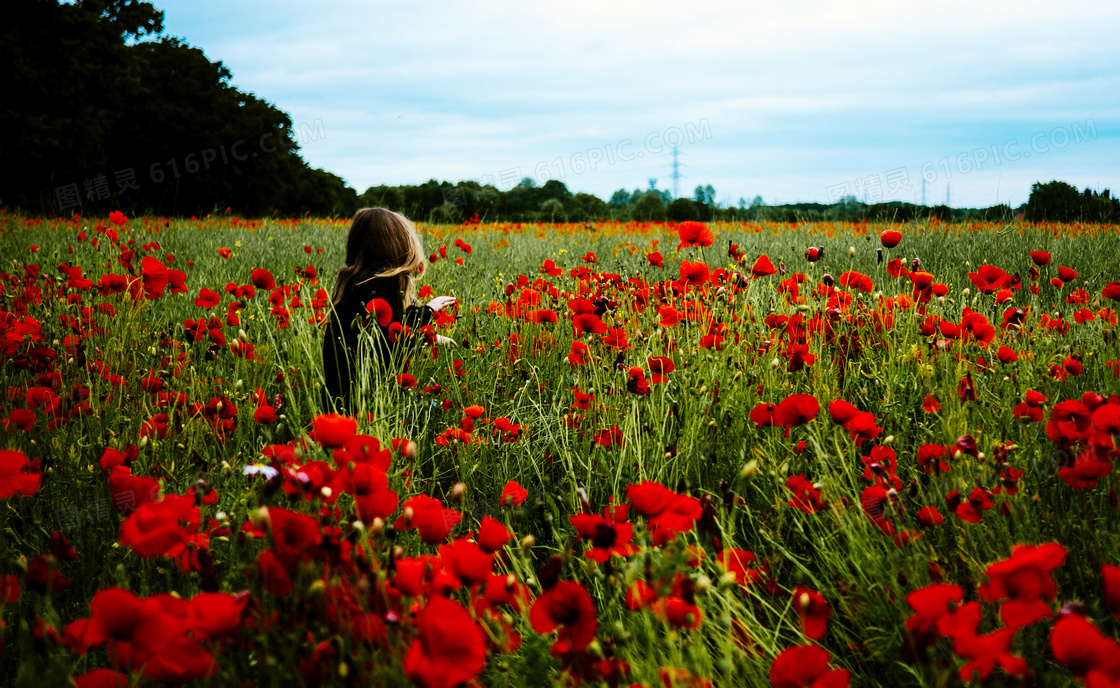
{"type": "MultiPolygon", "coordinates": [[[[376,316],[368,317],[368,322],[381,329],[381,336],[374,335],[374,355],[384,365],[395,348],[390,344],[393,323],[408,326],[416,333],[431,322],[437,310],[455,303],[455,297],[438,296],[427,306],[412,305],[416,292],[413,281],[423,275],[423,269],[420,236],[403,215],[383,207],[366,207],[354,214],[346,238],[346,267],[339,270],[335,281],[333,309],[323,340],[325,409],[334,407],[342,413],[351,415],[358,357],[358,324],[365,320],[366,304],[382,299],[392,310],[392,318],[384,326],[376,316]]],[[[439,341],[454,344],[447,337],[439,337],[439,341]]]]}

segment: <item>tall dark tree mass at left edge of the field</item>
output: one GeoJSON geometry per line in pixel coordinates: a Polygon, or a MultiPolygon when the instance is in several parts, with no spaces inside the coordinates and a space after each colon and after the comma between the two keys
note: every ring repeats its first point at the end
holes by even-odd
{"type": "MultiPolygon", "coordinates": [[[[0,29],[0,202],[27,212],[347,215],[357,195],[299,156],[291,119],[164,37],[136,0],[18,0],[0,29]],[[239,143],[240,142],[240,143],[239,143]]],[[[10,8],[9,8],[10,9],[10,8]]]]}

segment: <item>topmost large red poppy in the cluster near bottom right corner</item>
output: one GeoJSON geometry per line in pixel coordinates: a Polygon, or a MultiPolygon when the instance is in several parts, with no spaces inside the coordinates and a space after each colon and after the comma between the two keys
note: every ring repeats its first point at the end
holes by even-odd
{"type": "Polygon", "coordinates": [[[1006,599],[999,616],[1008,626],[1020,627],[1049,619],[1049,606],[1043,599],[1057,596],[1057,585],[1051,573],[1063,561],[1065,548],[1057,542],[1012,547],[1009,558],[992,564],[984,571],[988,583],[980,586],[980,597],[988,602],[1006,599]]]}

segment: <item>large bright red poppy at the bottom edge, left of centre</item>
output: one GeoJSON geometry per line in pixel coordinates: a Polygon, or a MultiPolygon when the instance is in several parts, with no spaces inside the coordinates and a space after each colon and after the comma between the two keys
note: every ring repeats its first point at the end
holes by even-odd
{"type": "Polygon", "coordinates": [[[426,688],[454,688],[474,681],[486,666],[486,642],[470,613],[433,596],[417,614],[417,638],[404,658],[404,672],[426,688]]]}

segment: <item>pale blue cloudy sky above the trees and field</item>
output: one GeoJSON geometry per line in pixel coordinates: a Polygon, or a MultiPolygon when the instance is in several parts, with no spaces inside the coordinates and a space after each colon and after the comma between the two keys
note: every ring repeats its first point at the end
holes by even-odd
{"type": "Polygon", "coordinates": [[[711,185],[721,205],[1120,192],[1120,3],[155,0],[379,184],[711,185]]]}

